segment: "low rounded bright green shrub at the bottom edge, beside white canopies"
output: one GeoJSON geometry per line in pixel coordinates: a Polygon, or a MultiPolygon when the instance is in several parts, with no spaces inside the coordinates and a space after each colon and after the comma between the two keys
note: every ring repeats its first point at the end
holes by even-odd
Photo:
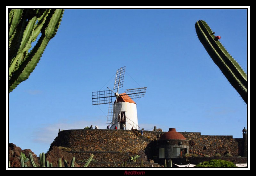
{"type": "Polygon", "coordinates": [[[210,161],[204,161],[203,163],[200,163],[195,167],[236,167],[236,165],[230,161],[212,159],[210,161]]]}

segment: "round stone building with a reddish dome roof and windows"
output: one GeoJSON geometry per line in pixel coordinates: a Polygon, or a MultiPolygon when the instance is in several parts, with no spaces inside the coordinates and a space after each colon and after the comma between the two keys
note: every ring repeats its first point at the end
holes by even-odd
{"type": "Polygon", "coordinates": [[[176,132],[175,128],[169,128],[169,131],[160,136],[157,141],[157,150],[159,159],[182,157],[188,153],[188,140],[176,132]]]}

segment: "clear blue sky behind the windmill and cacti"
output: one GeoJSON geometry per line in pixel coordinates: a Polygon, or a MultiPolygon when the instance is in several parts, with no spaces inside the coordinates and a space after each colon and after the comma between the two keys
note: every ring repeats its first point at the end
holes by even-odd
{"type": "MultiPolygon", "coordinates": [[[[108,105],[92,92],[148,87],[137,103],[141,128],[242,138],[247,105],[197,38],[205,20],[247,72],[245,9],[67,9],[28,80],[9,94],[9,142],[37,155],[60,129],[105,129],[108,105]]],[[[8,125],[8,124],[7,124],[8,125]]]]}

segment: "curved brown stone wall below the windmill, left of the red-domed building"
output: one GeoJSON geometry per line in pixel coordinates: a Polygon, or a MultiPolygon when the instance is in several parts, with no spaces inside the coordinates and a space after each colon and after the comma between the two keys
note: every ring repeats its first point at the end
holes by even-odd
{"type": "MultiPolygon", "coordinates": [[[[72,153],[76,162],[83,161],[94,155],[98,162],[107,166],[113,162],[122,163],[130,156],[140,151],[151,154],[150,147],[160,132],[144,132],[141,136],[136,130],[107,130],[107,129],[77,129],[60,131],[50,146],[61,146],[63,150],[72,153]]],[[[145,154],[144,154],[145,155],[145,154]]],[[[146,160],[149,160],[147,156],[146,160]]],[[[145,159],[144,159],[145,160],[145,159]]]]}

